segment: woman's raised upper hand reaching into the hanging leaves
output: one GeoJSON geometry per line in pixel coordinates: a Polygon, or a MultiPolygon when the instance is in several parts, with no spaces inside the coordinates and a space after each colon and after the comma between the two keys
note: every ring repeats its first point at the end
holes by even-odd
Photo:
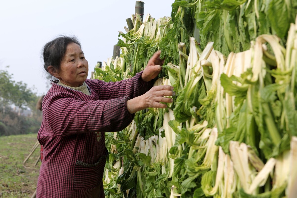
{"type": "Polygon", "coordinates": [[[161,51],[157,51],[151,59],[149,59],[146,68],[144,68],[141,78],[143,81],[149,82],[156,78],[162,71],[163,59],[160,59],[161,51]]]}

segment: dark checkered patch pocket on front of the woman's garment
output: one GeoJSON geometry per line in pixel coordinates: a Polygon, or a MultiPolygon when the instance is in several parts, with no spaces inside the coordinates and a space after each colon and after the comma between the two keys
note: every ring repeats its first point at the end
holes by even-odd
{"type": "Polygon", "coordinates": [[[108,151],[95,164],[76,161],[74,168],[74,190],[87,190],[102,183],[104,166],[108,151]]]}

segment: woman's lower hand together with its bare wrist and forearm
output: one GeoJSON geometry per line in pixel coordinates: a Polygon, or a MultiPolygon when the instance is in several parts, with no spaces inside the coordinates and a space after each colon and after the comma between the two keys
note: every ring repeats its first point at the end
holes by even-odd
{"type": "Polygon", "coordinates": [[[175,92],[173,92],[173,87],[170,85],[155,86],[145,94],[131,100],[127,100],[127,109],[132,114],[148,107],[166,108],[167,105],[160,102],[172,103],[172,98],[166,98],[164,96],[174,95],[175,92]]]}

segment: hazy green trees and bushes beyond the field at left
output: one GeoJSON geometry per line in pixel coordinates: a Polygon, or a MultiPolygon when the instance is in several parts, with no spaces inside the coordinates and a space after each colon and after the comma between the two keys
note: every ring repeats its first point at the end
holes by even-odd
{"type": "Polygon", "coordinates": [[[26,83],[13,81],[11,74],[0,70],[0,136],[37,133],[42,121],[42,112],[35,108],[39,98],[26,83]],[[18,107],[18,113],[12,105],[18,107]],[[20,110],[27,108],[31,116],[20,115],[20,110]]]}

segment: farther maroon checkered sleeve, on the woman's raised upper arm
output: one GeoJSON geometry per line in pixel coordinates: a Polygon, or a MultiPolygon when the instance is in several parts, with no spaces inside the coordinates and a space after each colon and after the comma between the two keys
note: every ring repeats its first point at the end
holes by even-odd
{"type": "Polygon", "coordinates": [[[117,82],[93,80],[92,87],[99,93],[100,100],[108,100],[123,96],[128,96],[132,99],[149,91],[154,84],[153,80],[149,82],[143,81],[141,78],[142,73],[143,71],[137,73],[130,79],[117,82]]]}

